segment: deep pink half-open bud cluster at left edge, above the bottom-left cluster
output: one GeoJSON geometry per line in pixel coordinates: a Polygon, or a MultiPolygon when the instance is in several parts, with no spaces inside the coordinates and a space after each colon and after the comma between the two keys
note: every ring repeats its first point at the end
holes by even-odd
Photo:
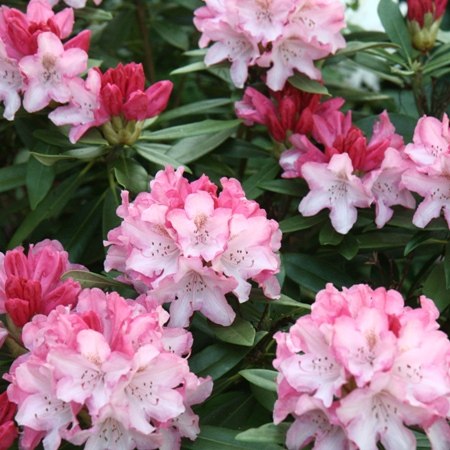
{"type": "Polygon", "coordinates": [[[71,264],[58,241],[45,240],[0,252],[0,313],[6,313],[16,327],[23,327],[36,314],[49,314],[58,305],[74,306],[81,291],[72,279],[61,280],[71,264]]]}

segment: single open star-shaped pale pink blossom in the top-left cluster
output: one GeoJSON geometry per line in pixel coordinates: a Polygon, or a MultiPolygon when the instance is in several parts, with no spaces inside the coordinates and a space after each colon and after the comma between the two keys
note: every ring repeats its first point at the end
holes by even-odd
{"type": "Polygon", "coordinates": [[[69,82],[86,70],[87,54],[79,48],[65,50],[55,34],[45,32],[38,36],[37,53],[22,58],[19,66],[27,78],[23,106],[35,112],[51,100],[70,100],[69,82]]]}

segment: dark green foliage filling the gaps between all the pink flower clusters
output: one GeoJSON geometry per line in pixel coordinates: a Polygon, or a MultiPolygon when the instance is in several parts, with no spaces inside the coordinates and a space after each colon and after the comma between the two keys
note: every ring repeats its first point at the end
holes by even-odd
{"type": "MultiPolygon", "coordinates": [[[[26,6],[24,1],[7,4],[26,6]]],[[[14,122],[2,120],[0,248],[58,239],[71,261],[93,272],[71,273],[83,286],[129,297],[130,288],[100,275],[102,241],[118,224],[120,190],[147,190],[167,164],[183,165],[193,177],[206,173],[215,182],[222,176],[241,180],[247,197],[280,222],[283,295],[269,303],[255,289],[250,302],[234,305],[238,319],[231,327],[195,318],[191,370],[212,376],[214,392],[196,410],[199,439],[184,448],[271,450],[282,448],[285,433],[271,424],[274,332],[307,313],[328,282],[392,287],[411,302],[423,293],[435,300],[442,328],[450,332],[450,233],[442,218],[419,230],[411,222],[413,213],[400,209],[382,230],[374,225],[374,212],[363,211],[347,235],[334,231],[326,213],[300,216],[297,206],[306,183],[280,178],[279,149],[267,131],[236,119],[233,103],[242,91],[230,83],[226,65],[207,68],[202,62],[204,51],[197,50],[192,25],[201,4],[105,0],[100,8],[90,4],[76,12],[77,27],[93,32],[92,65],[142,62],[150,82],[171,79],[174,93],[166,112],[149,120],[131,147],[111,147],[97,131],[72,145],[68,130],[53,126],[45,115],[21,112],[14,122]]],[[[347,47],[323,61],[324,85],[301,76],[291,82],[307,92],[344,97],[357,125],[368,133],[376,115],[388,109],[407,142],[422,114],[449,112],[450,40],[442,33],[435,49],[422,55],[410,43],[398,6],[382,0],[379,12],[385,32],[350,30],[347,47]],[[347,86],[342,65],[376,73],[382,91],[347,86]]]]}

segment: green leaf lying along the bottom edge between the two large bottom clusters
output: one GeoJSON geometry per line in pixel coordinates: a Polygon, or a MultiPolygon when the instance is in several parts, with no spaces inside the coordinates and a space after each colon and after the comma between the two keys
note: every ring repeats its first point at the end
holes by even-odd
{"type": "Polygon", "coordinates": [[[274,444],[237,441],[237,434],[239,431],[205,425],[201,427],[197,439],[194,442],[185,441],[183,447],[190,450],[281,450],[274,444]]]}

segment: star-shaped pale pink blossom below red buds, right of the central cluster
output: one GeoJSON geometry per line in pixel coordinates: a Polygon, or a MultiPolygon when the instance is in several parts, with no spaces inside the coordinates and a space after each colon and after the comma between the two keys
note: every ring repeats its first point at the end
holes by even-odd
{"type": "Polygon", "coordinates": [[[310,192],[300,202],[300,213],[313,216],[329,208],[334,229],[346,234],[356,222],[356,207],[367,208],[372,202],[372,196],[352,172],[352,162],[346,153],[334,155],[328,164],[305,163],[302,174],[310,192]]]}

